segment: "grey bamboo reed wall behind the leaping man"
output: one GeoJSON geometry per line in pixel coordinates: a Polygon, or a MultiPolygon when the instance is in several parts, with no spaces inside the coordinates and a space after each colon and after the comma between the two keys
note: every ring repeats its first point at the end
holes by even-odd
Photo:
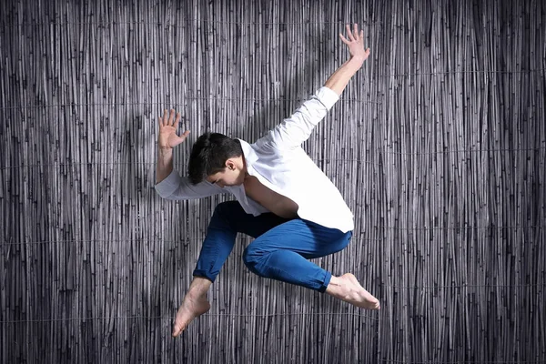
{"type": "Polygon", "coordinates": [[[0,5],[0,358],[546,362],[543,1],[0,5]],[[218,197],[154,190],[157,116],[254,141],[371,56],[305,147],[356,220],[316,262],[379,312],[258,278],[238,238],[172,339],[218,197]]]}

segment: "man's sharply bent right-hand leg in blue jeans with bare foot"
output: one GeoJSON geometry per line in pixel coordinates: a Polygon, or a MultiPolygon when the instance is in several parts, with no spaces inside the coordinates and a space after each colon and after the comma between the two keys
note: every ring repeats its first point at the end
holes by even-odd
{"type": "Polygon", "coordinates": [[[360,308],[379,308],[379,302],[359,285],[352,274],[333,277],[308,261],[335,253],[349,244],[351,232],[322,227],[302,219],[273,227],[254,240],[243,259],[260,277],[327,292],[360,308]]]}

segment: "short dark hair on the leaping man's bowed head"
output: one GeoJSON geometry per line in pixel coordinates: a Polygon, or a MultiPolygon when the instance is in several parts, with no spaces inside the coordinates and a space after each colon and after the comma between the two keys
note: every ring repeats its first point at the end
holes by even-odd
{"type": "Polygon", "coordinates": [[[197,138],[191,148],[187,174],[194,185],[210,175],[226,169],[226,161],[243,155],[237,139],[219,133],[205,133],[197,138]]]}

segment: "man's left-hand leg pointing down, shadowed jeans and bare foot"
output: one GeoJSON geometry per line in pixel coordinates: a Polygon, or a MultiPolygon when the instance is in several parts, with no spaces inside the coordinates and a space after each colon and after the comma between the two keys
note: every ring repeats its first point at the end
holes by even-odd
{"type": "Polygon", "coordinates": [[[207,291],[217,278],[220,268],[233,250],[237,233],[244,233],[253,238],[284,222],[286,218],[274,214],[262,214],[254,217],[247,214],[237,201],[218,204],[207,227],[207,237],[203,241],[193,272],[194,279],[187,290],[186,297],[178,308],[173,336],[179,335],[187,324],[210,309],[207,291]]]}

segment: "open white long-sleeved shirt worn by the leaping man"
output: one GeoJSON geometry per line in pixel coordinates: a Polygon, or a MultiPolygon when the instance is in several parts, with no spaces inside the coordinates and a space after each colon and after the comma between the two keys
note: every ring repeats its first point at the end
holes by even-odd
{"type": "MultiPolygon", "coordinates": [[[[323,227],[342,232],[354,229],[353,215],[337,187],[308,157],[301,144],[313,128],[326,116],[339,96],[328,87],[321,87],[310,100],[281,124],[254,144],[239,139],[247,171],[265,187],[290,198],[298,204],[298,216],[323,227]]],[[[248,197],[245,187],[218,187],[204,180],[192,185],[187,177],[173,170],[156,185],[157,194],[167,199],[208,197],[220,193],[234,195],[248,214],[268,212],[248,197]]]]}

